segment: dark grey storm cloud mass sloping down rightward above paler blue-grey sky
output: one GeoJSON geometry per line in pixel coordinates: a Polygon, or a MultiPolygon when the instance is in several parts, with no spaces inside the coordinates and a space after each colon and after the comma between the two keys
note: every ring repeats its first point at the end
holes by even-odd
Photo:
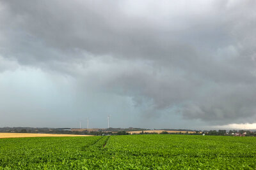
{"type": "Polygon", "coordinates": [[[132,97],[146,117],[255,122],[255,1],[0,4],[6,60],[132,97]]]}

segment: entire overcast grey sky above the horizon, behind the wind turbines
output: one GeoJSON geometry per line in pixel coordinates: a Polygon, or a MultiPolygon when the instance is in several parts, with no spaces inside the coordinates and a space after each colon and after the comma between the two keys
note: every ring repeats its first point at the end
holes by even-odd
{"type": "Polygon", "coordinates": [[[108,115],[111,127],[256,123],[255,9],[0,0],[0,127],[86,127],[90,117],[104,128],[108,115]]]}

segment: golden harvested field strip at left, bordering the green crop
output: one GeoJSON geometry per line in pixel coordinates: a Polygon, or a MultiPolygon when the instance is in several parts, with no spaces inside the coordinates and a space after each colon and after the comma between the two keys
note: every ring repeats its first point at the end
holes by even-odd
{"type": "Polygon", "coordinates": [[[77,135],[77,134],[0,133],[0,138],[63,137],[63,136],[92,136],[92,135],[77,135]]]}

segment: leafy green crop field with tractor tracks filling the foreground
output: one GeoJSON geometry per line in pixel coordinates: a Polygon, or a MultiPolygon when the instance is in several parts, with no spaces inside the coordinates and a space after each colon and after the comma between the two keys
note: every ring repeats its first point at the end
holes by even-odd
{"type": "Polygon", "coordinates": [[[0,139],[0,169],[256,169],[256,138],[129,135],[0,139]]]}

